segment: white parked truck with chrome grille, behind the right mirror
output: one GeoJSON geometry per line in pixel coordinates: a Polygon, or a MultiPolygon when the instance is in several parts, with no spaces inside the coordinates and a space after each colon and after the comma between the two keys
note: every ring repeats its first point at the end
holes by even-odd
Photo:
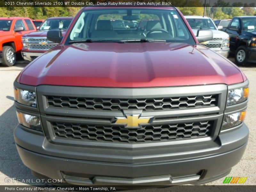
{"type": "MultiPolygon", "coordinates": [[[[213,33],[213,38],[210,41],[203,42],[204,46],[213,51],[228,57],[229,53],[229,36],[227,33],[218,30],[213,21],[209,17],[202,16],[185,16],[193,32],[197,33],[198,29],[210,29],[213,33]]],[[[221,27],[219,27],[221,29],[221,27]]]]}

